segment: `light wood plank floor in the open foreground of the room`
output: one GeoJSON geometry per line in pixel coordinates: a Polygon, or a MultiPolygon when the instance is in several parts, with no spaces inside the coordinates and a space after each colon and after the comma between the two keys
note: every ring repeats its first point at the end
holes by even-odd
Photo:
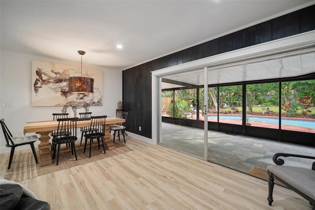
{"type": "Polygon", "coordinates": [[[127,137],[124,154],[21,181],[51,210],[311,210],[266,181],[127,137]]]}

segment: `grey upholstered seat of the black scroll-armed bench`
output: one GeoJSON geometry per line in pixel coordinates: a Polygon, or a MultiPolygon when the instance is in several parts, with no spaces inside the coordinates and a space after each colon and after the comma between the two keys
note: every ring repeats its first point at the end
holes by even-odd
{"type": "Polygon", "coordinates": [[[294,188],[315,199],[315,171],[292,166],[268,166],[267,170],[291,184],[294,188]]]}

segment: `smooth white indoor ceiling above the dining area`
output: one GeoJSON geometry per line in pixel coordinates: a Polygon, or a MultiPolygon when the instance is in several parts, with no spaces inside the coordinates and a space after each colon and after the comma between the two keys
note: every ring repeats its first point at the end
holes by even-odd
{"type": "Polygon", "coordinates": [[[0,0],[0,48],[76,62],[84,50],[83,63],[124,70],[314,3],[0,0]]]}

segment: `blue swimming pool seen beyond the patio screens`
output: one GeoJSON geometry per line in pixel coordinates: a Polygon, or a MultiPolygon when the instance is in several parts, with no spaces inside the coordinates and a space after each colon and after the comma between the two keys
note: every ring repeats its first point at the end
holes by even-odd
{"type": "MultiPolygon", "coordinates": [[[[208,117],[216,119],[217,115],[208,115],[208,117]]],[[[235,115],[220,115],[220,119],[227,119],[227,120],[242,120],[242,116],[235,116],[235,115]]],[[[265,123],[274,123],[279,124],[279,118],[271,118],[271,117],[248,117],[249,121],[253,122],[265,122],[265,123]]],[[[295,119],[281,119],[282,125],[293,125],[293,126],[300,126],[305,128],[312,128],[315,129],[315,121],[312,120],[295,120],[295,119]]]]}

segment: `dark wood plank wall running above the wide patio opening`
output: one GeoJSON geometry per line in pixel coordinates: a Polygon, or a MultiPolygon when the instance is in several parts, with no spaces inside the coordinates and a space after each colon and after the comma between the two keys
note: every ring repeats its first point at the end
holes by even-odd
{"type": "Polygon", "coordinates": [[[124,70],[123,103],[129,112],[126,130],[152,137],[151,71],[312,30],[315,5],[124,70]]]}

